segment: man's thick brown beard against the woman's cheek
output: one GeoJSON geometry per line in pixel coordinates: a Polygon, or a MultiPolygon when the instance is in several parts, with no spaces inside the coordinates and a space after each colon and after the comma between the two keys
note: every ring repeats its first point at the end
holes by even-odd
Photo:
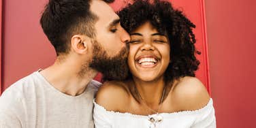
{"type": "Polygon", "coordinates": [[[114,57],[109,57],[106,50],[95,41],[93,42],[93,60],[89,67],[103,74],[105,80],[125,80],[129,74],[127,65],[128,48],[122,48],[114,57]]]}

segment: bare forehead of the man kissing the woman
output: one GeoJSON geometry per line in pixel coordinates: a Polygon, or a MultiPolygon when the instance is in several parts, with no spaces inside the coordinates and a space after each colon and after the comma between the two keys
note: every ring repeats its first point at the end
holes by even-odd
{"type": "Polygon", "coordinates": [[[105,22],[112,22],[118,18],[112,7],[108,3],[102,0],[93,0],[91,2],[91,12],[95,14],[99,19],[105,20],[105,22]]]}

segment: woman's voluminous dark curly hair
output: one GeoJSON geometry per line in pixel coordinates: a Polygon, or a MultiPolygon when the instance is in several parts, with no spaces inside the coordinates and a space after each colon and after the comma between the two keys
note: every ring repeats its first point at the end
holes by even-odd
{"type": "Polygon", "coordinates": [[[180,10],[175,10],[168,1],[136,0],[118,12],[121,26],[131,33],[145,22],[150,22],[160,33],[167,33],[170,39],[171,62],[165,71],[165,81],[173,81],[184,76],[195,76],[199,61],[195,54],[195,28],[180,10]]]}

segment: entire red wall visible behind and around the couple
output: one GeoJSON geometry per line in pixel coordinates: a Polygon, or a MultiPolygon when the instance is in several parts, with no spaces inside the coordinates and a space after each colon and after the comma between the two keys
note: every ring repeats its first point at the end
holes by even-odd
{"type": "MultiPolygon", "coordinates": [[[[212,93],[217,127],[256,127],[255,1],[171,1],[197,26],[196,46],[202,52],[197,77],[212,93]]],[[[0,93],[55,59],[54,49],[39,26],[46,0],[1,2],[0,93]]],[[[112,6],[117,10],[121,5],[123,1],[119,0],[112,6]]]]}

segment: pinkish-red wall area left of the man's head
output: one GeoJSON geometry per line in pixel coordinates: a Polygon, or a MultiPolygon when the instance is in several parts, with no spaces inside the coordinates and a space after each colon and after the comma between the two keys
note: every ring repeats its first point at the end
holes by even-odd
{"type": "Polygon", "coordinates": [[[43,0],[3,0],[3,90],[54,62],[54,49],[39,25],[44,3],[43,0]]]}

